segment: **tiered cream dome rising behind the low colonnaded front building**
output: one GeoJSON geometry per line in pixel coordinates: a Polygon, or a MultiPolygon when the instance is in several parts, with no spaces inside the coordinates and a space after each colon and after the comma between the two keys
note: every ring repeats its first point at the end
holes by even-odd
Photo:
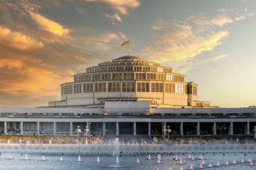
{"type": "Polygon", "coordinates": [[[104,108],[106,101],[148,101],[150,108],[208,108],[197,101],[197,84],[185,82],[185,75],[173,73],[137,56],[121,56],[74,75],[61,84],[61,101],[49,107],[104,108]]]}

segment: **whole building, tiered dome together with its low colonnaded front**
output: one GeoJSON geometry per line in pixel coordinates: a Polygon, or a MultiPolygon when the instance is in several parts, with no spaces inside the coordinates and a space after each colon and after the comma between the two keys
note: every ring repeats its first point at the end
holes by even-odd
{"type": "Polygon", "coordinates": [[[61,100],[41,108],[0,108],[1,134],[107,136],[252,135],[256,108],[219,108],[198,85],[137,56],[89,67],[61,84],[61,100]],[[163,133],[164,132],[164,133],[163,133]]]}

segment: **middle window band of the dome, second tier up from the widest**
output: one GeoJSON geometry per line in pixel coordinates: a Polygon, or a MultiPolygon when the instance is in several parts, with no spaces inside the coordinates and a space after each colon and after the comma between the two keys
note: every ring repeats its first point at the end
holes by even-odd
{"type": "Polygon", "coordinates": [[[88,75],[77,75],[74,81],[108,81],[108,80],[162,80],[162,81],[181,81],[184,82],[184,77],[179,75],[161,74],[161,73],[96,73],[88,75]]]}

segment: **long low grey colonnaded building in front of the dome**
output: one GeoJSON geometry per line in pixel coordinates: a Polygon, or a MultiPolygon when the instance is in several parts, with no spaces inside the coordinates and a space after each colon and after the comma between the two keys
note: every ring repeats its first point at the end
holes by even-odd
{"type": "Polygon", "coordinates": [[[148,102],[113,101],[104,108],[0,108],[2,133],[160,136],[252,135],[256,108],[150,108],[148,102]],[[20,130],[20,131],[19,131],[20,130]]]}

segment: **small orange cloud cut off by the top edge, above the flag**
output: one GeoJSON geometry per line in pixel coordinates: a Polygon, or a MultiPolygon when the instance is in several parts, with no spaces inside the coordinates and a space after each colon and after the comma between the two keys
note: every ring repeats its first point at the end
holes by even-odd
{"type": "Polygon", "coordinates": [[[103,2],[116,9],[122,15],[128,15],[128,9],[139,7],[140,3],[137,0],[86,0],[87,2],[103,2]]]}

